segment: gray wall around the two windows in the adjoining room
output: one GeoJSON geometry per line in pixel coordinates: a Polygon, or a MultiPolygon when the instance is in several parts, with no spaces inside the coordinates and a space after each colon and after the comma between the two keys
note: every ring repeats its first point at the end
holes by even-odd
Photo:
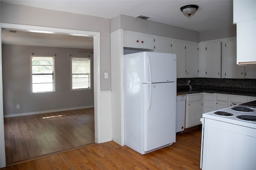
{"type": "MultiPolygon", "coordinates": [[[[71,91],[70,55],[88,57],[86,53],[78,53],[78,49],[2,45],[4,115],[94,106],[93,86],[92,90],[71,91]],[[56,92],[31,93],[32,53],[47,56],[56,54],[56,92]],[[16,104],[20,104],[20,109],[16,109],[16,104]]],[[[93,70],[93,55],[90,57],[93,70]]]]}

